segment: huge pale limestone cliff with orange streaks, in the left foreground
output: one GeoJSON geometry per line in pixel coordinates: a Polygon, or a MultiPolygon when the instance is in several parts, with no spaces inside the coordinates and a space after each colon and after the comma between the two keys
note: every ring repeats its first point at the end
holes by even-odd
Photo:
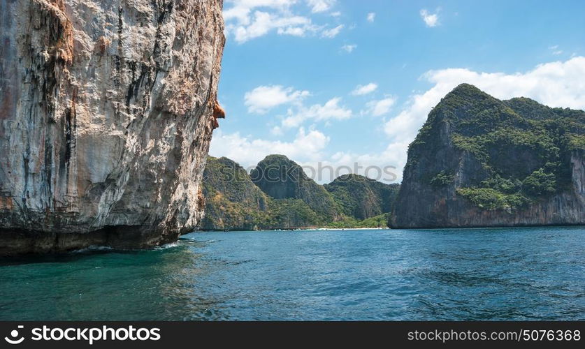
{"type": "Polygon", "coordinates": [[[173,241],[201,218],[221,0],[0,0],[0,254],[173,241]]]}

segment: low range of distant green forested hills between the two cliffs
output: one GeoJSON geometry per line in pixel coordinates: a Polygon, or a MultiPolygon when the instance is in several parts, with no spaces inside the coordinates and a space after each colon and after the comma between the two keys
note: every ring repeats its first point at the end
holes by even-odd
{"type": "Polygon", "coordinates": [[[398,184],[344,174],[320,185],[284,155],[248,174],[229,158],[208,157],[202,230],[386,228],[398,184]]]}

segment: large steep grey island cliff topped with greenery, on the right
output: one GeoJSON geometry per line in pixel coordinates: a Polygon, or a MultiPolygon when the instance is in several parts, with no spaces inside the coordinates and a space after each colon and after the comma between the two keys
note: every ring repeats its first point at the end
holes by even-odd
{"type": "Polygon", "coordinates": [[[585,112],[462,84],[410,144],[392,228],[585,224],[585,112]]]}

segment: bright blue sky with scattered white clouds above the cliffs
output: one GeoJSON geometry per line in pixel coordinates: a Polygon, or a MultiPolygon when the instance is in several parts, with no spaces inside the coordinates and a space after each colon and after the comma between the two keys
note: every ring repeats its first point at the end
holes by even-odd
{"type": "Polygon", "coordinates": [[[585,109],[584,17],[577,0],[226,0],[210,154],[400,181],[407,144],[461,82],[585,109]]]}

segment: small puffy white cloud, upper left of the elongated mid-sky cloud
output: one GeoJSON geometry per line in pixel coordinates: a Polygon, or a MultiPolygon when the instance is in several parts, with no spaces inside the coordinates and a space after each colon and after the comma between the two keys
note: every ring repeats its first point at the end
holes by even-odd
{"type": "Polygon", "coordinates": [[[264,114],[278,105],[295,103],[309,96],[309,91],[294,90],[281,85],[259,86],[244,95],[244,105],[248,112],[264,114]]]}

